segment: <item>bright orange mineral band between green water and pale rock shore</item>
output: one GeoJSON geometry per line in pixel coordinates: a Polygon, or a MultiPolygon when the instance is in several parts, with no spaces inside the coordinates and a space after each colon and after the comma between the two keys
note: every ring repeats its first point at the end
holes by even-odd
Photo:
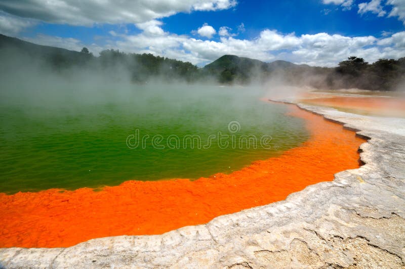
{"type": "Polygon", "coordinates": [[[282,155],[196,181],[127,181],[75,191],[0,194],[0,247],[69,247],[93,238],[163,234],[216,216],[284,200],[359,167],[365,140],[342,125],[289,105],[310,138],[282,155]]]}

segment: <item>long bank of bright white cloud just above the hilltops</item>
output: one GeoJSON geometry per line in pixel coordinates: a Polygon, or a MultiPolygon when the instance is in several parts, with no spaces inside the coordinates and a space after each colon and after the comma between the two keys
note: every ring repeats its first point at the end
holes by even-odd
{"type": "MultiPolygon", "coordinates": [[[[223,33],[223,32],[222,32],[223,33]]],[[[374,36],[349,37],[339,34],[317,33],[283,34],[265,29],[253,39],[239,39],[222,35],[220,40],[201,40],[187,35],[165,32],[151,35],[142,32],[125,36],[111,46],[126,52],[155,55],[189,61],[199,66],[232,54],[261,61],[277,59],[313,66],[336,66],[349,56],[375,62],[380,58],[405,57],[405,31],[379,39],[374,36]]]]}

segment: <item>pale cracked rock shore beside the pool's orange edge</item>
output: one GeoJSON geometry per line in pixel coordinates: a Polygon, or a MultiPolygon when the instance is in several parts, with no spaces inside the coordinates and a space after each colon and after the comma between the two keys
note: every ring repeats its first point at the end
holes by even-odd
{"type": "Polygon", "coordinates": [[[0,267],[405,268],[405,119],[299,106],[369,138],[365,165],[285,201],[163,235],[3,248],[0,267]]]}

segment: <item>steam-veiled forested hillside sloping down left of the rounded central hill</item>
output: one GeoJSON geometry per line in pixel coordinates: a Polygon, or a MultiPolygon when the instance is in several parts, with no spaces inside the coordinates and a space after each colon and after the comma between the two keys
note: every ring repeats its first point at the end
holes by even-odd
{"type": "Polygon", "coordinates": [[[105,50],[99,57],[95,57],[87,48],[83,48],[81,52],[69,51],[33,44],[2,34],[0,34],[0,60],[4,65],[14,66],[16,69],[14,71],[18,71],[20,67],[25,67],[26,70],[30,65],[32,68],[39,66],[44,72],[67,73],[85,69],[112,78],[129,77],[133,82],[139,83],[157,76],[166,80],[192,82],[198,79],[199,74],[198,68],[189,62],[152,54],[127,54],[118,50],[105,50]],[[36,65],[33,66],[32,62],[36,65]]]}

